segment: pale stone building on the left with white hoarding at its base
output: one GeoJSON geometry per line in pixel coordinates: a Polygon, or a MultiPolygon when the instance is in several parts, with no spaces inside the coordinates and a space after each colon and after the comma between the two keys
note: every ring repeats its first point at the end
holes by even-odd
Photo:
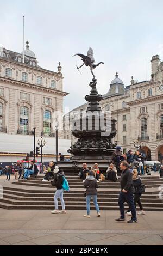
{"type": "MultiPolygon", "coordinates": [[[[33,151],[32,130],[37,139],[43,136],[45,160],[55,155],[55,119],[63,111],[63,76],[38,65],[34,52],[22,53],[0,48],[0,161],[22,159],[33,151]],[[24,58],[24,59],[23,59],[24,58]],[[24,60],[24,61],[23,61],[24,60]]],[[[70,141],[59,131],[59,151],[67,153],[70,141]]],[[[47,160],[48,161],[48,160],[47,160]]]]}

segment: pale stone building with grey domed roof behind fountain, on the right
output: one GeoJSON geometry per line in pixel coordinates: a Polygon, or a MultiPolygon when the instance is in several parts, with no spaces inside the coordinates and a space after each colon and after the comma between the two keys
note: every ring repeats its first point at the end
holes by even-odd
{"type": "MultiPolygon", "coordinates": [[[[103,95],[103,100],[99,103],[102,110],[111,111],[111,117],[117,121],[117,135],[113,141],[121,145],[124,153],[129,149],[135,151],[134,141],[139,139],[141,148],[146,153],[146,159],[162,162],[163,62],[156,55],[152,57],[151,65],[151,80],[137,82],[132,77],[131,84],[126,87],[116,73],[108,93],[103,95]]],[[[100,84],[97,82],[98,92],[99,87],[100,84]]],[[[87,103],[67,114],[70,118],[70,126],[76,114],[85,111],[86,107],[87,103]]],[[[69,130],[65,129],[64,138],[71,138],[73,144],[75,138],[70,130],[71,127],[69,130]]]]}

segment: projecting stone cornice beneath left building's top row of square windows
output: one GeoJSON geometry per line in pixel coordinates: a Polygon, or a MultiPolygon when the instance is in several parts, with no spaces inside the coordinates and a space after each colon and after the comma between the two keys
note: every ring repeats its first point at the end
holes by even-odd
{"type": "Polygon", "coordinates": [[[49,88],[49,87],[43,87],[43,86],[39,86],[37,84],[32,84],[32,83],[27,83],[27,82],[23,82],[23,81],[18,81],[18,80],[14,80],[13,78],[5,78],[0,76],[0,81],[5,82],[5,83],[12,83],[12,84],[16,84],[17,86],[23,86],[23,87],[28,87],[28,88],[33,88],[33,89],[37,89],[37,90],[42,90],[43,92],[48,92],[48,93],[54,93],[54,94],[58,94],[61,96],[66,96],[69,93],[66,92],[62,92],[61,90],[57,90],[57,89],[53,89],[53,88],[49,88]]]}

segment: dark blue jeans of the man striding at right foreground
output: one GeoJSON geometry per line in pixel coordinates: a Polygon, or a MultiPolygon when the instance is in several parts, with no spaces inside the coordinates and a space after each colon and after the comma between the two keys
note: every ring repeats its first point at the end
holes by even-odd
{"type": "Polygon", "coordinates": [[[121,212],[121,218],[125,218],[124,216],[124,202],[128,203],[129,209],[131,210],[132,217],[131,219],[136,221],[136,209],[134,205],[134,194],[130,191],[127,193],[120,192],[119,199],[118,199],[118,205],[120,206],[120,212],[121,212]]]}

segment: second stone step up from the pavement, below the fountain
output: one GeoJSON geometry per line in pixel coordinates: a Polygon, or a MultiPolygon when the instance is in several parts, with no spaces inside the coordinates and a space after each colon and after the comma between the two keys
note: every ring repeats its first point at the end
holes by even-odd
{"type": "MultiPolygon", "coordinates": [[[[7,204],[12,204],[12,205],[53,205],[54,206],[54,202],[48,202],[48,201],[17,201],[17,200],[10,200],[10,199],[3,199],[0,198],[0,202],[1,203],[7,203],[7,204]]],[[[59,200],[59,205],[60,205],[60,200],[59,200]]],[[[78,207],[79,205],[86,205],[86,200],[82,201],[66,201],[66,205],[76,205],[76,207],[78,207]]],[[[93,202],[91,200],[91,205],[93,205],[93,202]]],[[[117,206],[118,202],[98,202],[99,206],[117,206]]],[[[143,203],[143,207],[146,208],[147,207],[152,207],[152,208],[162,208],[163,210],[163,203],[143,203]]]]}

